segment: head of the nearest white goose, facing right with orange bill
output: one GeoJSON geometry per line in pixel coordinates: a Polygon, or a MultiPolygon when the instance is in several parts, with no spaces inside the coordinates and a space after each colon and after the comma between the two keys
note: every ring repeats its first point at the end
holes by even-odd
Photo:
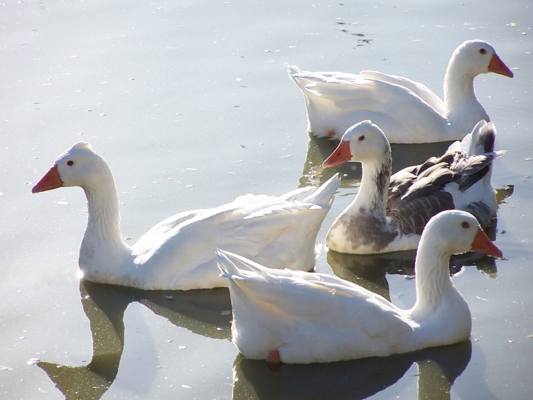
{"type": "Polygon", "coordinates": [[[422,234],[420,248],[428,239],[430,247],[440,247],[448,254],[478,252],[502,258],[501,250],[483,232],[478,220],[468,212],[448,210],[432,217],[422,234]]]}

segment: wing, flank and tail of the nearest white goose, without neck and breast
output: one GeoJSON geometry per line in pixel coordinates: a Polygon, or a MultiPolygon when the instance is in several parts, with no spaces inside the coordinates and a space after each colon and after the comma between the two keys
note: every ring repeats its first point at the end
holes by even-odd
{"type": "Polygon", "coordinates": [[[245,357],[286,362],[385,355],[417,327],[381,296],[335,276],[279,271],[218,252],[231,279],[234,340],[245,357]]]}

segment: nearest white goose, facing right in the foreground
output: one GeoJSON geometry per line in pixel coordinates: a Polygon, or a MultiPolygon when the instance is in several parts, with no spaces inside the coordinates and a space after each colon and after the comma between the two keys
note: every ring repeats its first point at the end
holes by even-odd
{"type": "Polygon", "coordinates": [[[404,310],[335,275],[274,269],[218,249],[221,276],[230,280],[232,341],[249,359],[307,364],[467,340],[470,310],[448,264],[452,254],[470,251],[502,257],[468,212],[432,217],[416,253],[416,303],[404,310]]]}

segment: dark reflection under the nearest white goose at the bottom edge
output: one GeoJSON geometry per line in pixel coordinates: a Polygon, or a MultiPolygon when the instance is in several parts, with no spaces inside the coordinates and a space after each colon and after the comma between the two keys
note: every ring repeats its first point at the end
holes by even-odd
{"type": "Polygon", "coordinates": [[[233,399],[365,399],[398,382],[413,362],[419,369],[419,399],[449,399],[471,353],[466,340],[391,357],[275,368],[239,354],[233,364],[233,399]]]}

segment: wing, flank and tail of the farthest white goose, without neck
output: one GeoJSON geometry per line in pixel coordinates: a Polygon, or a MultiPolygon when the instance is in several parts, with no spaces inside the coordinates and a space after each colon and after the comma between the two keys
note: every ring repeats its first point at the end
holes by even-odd
{"type": "Polygon", "coordinates": [[[340,72],[292,75],[306,95],[311,128],[324,124],[340,137],[352,124],[370,119],[392,143],[435,141],[434,136],[448,134],[442,101],[427,87],[379,72],[365,75],[387,80],[340,72]]]}

